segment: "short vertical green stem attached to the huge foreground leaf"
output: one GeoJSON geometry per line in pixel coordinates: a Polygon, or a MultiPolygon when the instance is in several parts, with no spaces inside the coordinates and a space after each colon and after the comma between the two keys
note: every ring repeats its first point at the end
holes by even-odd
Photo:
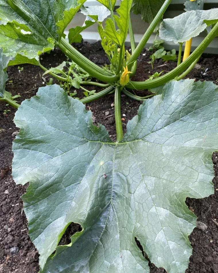
{"type": "Polygon", "coordinates": [[[116,142],[120,142],[123,138],[122,120],[121,120],[121,91],[120,86],[116,86],[114,95],[114,111],[116,123],[116,142]]]}

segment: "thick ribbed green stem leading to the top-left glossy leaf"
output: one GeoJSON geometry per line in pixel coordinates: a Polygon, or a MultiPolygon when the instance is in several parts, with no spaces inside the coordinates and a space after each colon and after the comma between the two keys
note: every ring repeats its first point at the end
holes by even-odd
{"type": "Polygon", "coordinates": [[[98,80],[102,80],[103,82],[113,83],[118,79],[118,76],[114,75],[110,71],[105,71],[100,68],[92,61],[84,57],[79,51],[77,51],[72,45],[70,45],[63,37],[61,41],[58,43],[58,47],[76,64],[78,64],[81,68],[83,68],[86,72],[88,72],[93,77],[98,80]],[[108,75],[105,75],[108,73],[108,75]]]}

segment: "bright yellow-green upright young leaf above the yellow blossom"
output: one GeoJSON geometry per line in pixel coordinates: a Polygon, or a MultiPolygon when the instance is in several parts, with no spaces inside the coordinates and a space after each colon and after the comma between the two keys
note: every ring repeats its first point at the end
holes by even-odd
{"type": "Polygon", "coordinates": [[[105,36],[111,39],[120,47],[124,45],[126,35],[129,27],[129,16],[133,0],[123,0],[120,7],[116,10],[118,15],[114,15],[113,19],[116,21],[118,30],[114,26],[112,18],[106,20],[105,36]]]}

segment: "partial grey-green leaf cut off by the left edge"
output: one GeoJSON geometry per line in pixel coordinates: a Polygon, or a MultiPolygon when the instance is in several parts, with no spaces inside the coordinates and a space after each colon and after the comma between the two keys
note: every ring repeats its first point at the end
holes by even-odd
{"type": "Polygon", "coordinates": [[[5,82],[8,80],[7,65],[11,59],[11,56],[5,56],[3,49],[0,48],[0,97],[5,97],[5,82]]]}

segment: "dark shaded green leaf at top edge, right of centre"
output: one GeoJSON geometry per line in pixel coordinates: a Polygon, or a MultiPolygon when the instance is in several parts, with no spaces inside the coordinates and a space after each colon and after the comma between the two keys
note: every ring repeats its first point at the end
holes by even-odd
{"type": "Polygon", "coordinates": [[[151,24],[165,0],[133,0],[132,11],[141,14],[144,22],[151,24]]]}

